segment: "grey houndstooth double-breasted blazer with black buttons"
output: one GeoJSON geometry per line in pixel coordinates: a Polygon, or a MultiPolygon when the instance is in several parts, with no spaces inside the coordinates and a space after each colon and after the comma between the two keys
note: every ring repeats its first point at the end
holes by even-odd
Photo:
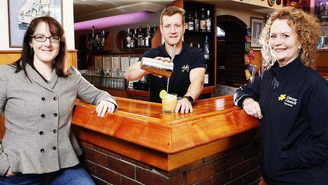
{"type": "Polygon", "coordinates": [[[0,175],[14,172],[47,173],[79,163],[82,154],[71,131],[75,98],[89,104],[114,97],[86,81],[71,67],[67,78],[53,70],[45,82],[30,66],[15,73],[14,66],[0,65],[0,113],[5,112],[6,133],[0,142],[0,175]]]}

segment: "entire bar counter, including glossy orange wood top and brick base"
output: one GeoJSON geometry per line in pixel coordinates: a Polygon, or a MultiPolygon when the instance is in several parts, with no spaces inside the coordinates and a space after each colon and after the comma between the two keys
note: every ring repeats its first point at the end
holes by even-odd
{"type": "Polygon", "coordinates": [[[116,99],[119,109],[104,118],[97,117],[94,106],[77,101],[74,107],[72,127],[97,183],[250,184],[260,177],[260,147],[254,145],[259,121],[234,107],[232,96],[198,101],[188,114],[162,113],[157,103],[116,99]],[[246,163],[251,167],[240,172],[246,163]],[[116,176],[121,177],[113,181],[116,176]]]}

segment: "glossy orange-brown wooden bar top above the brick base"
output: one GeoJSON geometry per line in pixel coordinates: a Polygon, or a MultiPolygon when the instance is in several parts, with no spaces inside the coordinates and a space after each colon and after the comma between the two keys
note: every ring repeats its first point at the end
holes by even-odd
{"type": "Polygon", "coordinates": [[[76,102],[72,124],[166,154],[176,154],[259,126],[235,107],[233,96],[196,102],[193,113],[162,113],[161,104],[116,98],[114,114],[97,117],[95,106],[76,102]]]}

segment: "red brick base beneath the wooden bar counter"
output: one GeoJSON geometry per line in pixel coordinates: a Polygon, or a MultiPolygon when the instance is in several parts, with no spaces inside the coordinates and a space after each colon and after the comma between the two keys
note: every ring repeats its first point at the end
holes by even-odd
{"type": "Polygon", "coordinates": [[[171,171],[164,171],[81,141],[82,164],[96,184],[258,184],[260,138],[171,171]]]}

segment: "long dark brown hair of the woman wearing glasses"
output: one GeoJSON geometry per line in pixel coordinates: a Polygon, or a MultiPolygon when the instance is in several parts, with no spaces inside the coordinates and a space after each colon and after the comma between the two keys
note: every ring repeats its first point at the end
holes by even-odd
{"type": "Polygon", "coordinates": [[[67,77],[70,75],[70,73],[68,72],[67,67],[65,31],[63,26],[56,19],[49,16],[37,17],[31,21],[30,26],[27,28],[24,35],[21,58],[14,63],[14,65],[16,66],[15,72],[17,73],[21,70],[24,70],[26,77],[29,79],[28,74],[26,72],[26,64],[29,64],[35,71],[37,71],[33,64],[34,55],[30,53],[30,42],[33,38],[31,37],[31,35],[33,35],[36,27],[41,22],[47,24],[52,36],[61,37],[59,53],[57,57],[54,58],[53,69],[56,70],[56,74],[59,77],[67,77]]]}

